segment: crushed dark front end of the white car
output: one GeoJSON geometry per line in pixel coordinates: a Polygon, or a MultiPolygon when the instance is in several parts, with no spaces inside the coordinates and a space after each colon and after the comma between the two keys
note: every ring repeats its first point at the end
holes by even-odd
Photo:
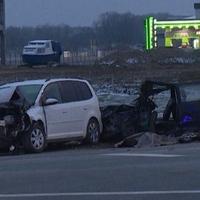
{"type": "MultiPolygon", "coordinates": [[[[41,85],[35,85],[39,92],[41,85]]],[[[3,85],[0,87],[0,149],[21,145],[24,133],[28,132],[31,126],[31,119],[27,110],[33,105],[32,96],[27,100],[30,87],[3,85]]],[[[37,94],[37,93],[36,93],[37,94]]]]}

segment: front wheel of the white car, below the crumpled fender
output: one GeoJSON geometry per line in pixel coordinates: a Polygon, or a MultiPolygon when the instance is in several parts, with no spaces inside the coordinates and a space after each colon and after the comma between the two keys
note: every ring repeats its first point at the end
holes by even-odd
{"type": "Polygon", "coordinates": [[[46,135],[44,128],[35,123],[24,135],[24,148],[26,152],[40,153],[46,147],[46,135]]]}

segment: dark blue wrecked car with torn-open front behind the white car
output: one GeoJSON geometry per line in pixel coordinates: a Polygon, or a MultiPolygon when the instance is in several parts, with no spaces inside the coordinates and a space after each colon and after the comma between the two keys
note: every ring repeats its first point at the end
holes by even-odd
{"type": "Polygon", "coordinates": [[[119,142],[141,132],[174,137],[199,132],[200,83],[145,81],[131,105],[109,105],[101,111],[104,141],[119,142]]]}

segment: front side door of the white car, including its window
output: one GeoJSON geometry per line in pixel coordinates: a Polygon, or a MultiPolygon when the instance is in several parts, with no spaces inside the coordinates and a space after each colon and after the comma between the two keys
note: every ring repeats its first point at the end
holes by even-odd
{"type": "Polygon", "coordinates": [[[66,137],[66,121],[70,118],[66,118],[63,110],[59,82],[50,83],[44,89],[43,101],[52,98],[57,99],[58,103],[44,106],[48,139],[60,139],[66,137]]]}

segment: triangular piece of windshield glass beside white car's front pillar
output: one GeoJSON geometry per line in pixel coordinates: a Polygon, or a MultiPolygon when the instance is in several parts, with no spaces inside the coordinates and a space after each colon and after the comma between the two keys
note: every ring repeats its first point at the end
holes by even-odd
{"type": "Polygon", "coordinates": [[[28,103],[33,105],[38,96],[38,93],[40,92],[41,87],[42,85],[39,85],[39,84],[20,85],[20,86],[17,86],[17,90],[26,99],[26,101],[28,101],[28,103]]]}

